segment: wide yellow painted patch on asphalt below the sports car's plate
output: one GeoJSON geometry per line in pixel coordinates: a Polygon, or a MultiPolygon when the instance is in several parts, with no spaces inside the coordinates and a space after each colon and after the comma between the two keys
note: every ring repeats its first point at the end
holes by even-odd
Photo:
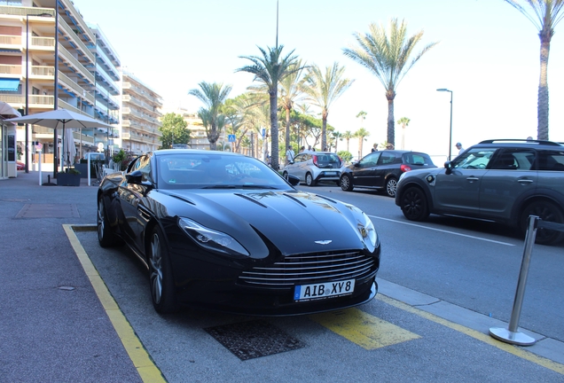
{"type": "Polygon", "coordinates": [[[420,338],[413,332],[359,309],[314,314],[309,318],[367,350],[420,338]]]}

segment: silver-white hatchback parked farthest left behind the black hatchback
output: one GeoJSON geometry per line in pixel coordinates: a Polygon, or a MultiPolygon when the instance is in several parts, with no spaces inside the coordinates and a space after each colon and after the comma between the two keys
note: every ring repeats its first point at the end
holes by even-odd
{"type": "Polygon", "coordinates": [[[342,166],[342,160],[334,152],[301,152],[282,168],[282,175],[285,178],[297,176],[308,186],[326,182],[339,184],[342,166]]]}

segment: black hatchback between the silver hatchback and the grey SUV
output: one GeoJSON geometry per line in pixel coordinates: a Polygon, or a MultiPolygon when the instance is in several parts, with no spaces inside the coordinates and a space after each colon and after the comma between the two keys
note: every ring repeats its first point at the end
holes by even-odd
{"type": "Polygon", "coordinates": [[[371,152],[358,162],[341,170],[341,189],[354,188],[383,190],[389,197],[396,196],[396,184],[403,173],[415,168],[436,168],[424,152],[384,150],[371,152]]]}

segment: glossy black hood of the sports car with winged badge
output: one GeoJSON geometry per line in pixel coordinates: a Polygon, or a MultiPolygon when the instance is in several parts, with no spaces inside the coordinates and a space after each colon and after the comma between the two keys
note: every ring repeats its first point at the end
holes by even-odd
{"type": "Polygon", "coordinates": [[[254,258],[270,254],[265,245],[269,241],[284,255],[366,247],[359,232],[362,212],[316,194],[294,190],[161,193],[176,199],[165,204],[168,216],[189,217],[228,233],[254,258]]]}

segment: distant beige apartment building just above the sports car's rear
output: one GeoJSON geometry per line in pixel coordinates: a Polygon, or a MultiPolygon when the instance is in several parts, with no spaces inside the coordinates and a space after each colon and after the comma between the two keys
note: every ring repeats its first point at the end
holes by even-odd
{"type": "Polygon", "coordinates": [[[140,154],[161,146],[161,96],[127,70],[121,96],[121,147],[140,154]]]}

